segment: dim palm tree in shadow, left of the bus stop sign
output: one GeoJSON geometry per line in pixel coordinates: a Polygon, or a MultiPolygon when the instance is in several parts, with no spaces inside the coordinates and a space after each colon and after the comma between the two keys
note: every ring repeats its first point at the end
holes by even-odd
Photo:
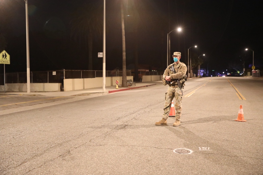
{"type": "Polygon", "coordinates": [[[98,3],[81,5],[73,14],[71,25],[71,38],[80,45],[88,47],[89,63],[88,70],[92,70],[92,49],[94,35],[101,36],[103,29],[103,6],[98,3]]]}

